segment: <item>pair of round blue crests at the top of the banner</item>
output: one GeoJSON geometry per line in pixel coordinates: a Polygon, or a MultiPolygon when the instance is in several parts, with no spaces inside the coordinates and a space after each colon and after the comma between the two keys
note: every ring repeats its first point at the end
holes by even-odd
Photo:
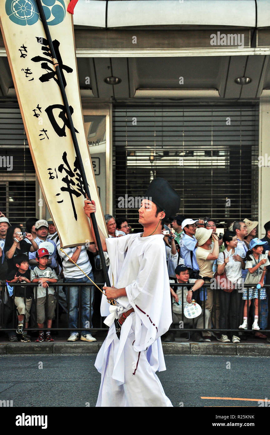
{"type": "MultiPolygon", "coordinates": [[[[55,26],[66,16],[64,0],[42,0],[48,26],[55,26]]],[[[36,0],[6,0],[6,13],[20,26],[32,26],[40,19],[36,0]]]]}

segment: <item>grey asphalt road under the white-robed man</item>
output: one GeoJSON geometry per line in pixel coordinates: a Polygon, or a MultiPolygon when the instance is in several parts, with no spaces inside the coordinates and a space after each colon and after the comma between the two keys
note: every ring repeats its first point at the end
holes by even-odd
{"type": "MultiPolygon", "coordinates": [[[[1,355],[0,400],[12,400],[13,407],[93,407],[100,385],[95,357],[1,355]]],[[[165,360],[167,371],[158,376],[175,407],[258,407],[258,400],[270,399],[268,357],[167,355],[165,360]]]]}

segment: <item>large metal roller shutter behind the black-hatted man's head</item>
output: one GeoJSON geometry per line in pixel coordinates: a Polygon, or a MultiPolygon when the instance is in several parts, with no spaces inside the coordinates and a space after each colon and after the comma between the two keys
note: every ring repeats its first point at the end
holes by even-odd
{"type": "Polygon", "coordinates": [[[257,219],[258,117],[257,105],[116,107],[116,218],[127,216],[135,231],[141,228],[128,198],[143,196],[154,177],[163,177],[180,194],[185,217],[208,216],[217,223],[257,219]],[[127,198],[123,208],[121,197],[127,198]]]}

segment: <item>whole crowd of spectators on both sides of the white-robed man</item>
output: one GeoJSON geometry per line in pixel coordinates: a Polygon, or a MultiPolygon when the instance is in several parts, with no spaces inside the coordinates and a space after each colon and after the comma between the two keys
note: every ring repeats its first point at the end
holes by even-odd
{"type": "MultiPolygon", "coordinates": [[[[105,222],[109,237],[124,237],[131,231],[125,216],[115,220],[106,214],[105,222]]],[[[239,343],[247,329],[270,341],[270,335],[263,333],[270,328],[270,290],[264,286],[270,284],[270,221],[261,240],[256,237],[257,225],[249,219],[230,221],[218,235],[213,219],[179,214],[164,221],[173,316],[165,341],[173,341],[185,329],[198,342],[239,343]],[[183,310],[194,302],[202,312],[192,320],[183,310]]],[[[103,278],[95,245],[86,243],[63,252],[52,219],[30,218],[25,231],[0,215],[0,279],[7,284],[0,298],[2,329],[10,341],[54,341],[53,321],[57,319],[59,325],[64,315],[67,341],[96,341],[92,331],[101,324],[93,325],[94,296],[98,309],[100,294],[89,278],[97,283],[103,278]]],[[[100,322],[99,314],[97,318],[100,322]]]]}

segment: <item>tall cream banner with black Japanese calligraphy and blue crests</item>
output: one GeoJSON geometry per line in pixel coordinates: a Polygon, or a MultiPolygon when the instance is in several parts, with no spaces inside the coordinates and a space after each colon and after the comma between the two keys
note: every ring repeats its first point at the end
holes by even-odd
{"type": "MultiPolygon", "coordinates": [[[[68,4],[69,0],[42,0],[90,195],[97,204],[97,222],[107,234],[84,130],[68,4]]],[[[82,177],[36,1],[1,0],[0,24],[33,163],[61,246],[91,242],[90,221],[83,211],[82,177]]]]}

